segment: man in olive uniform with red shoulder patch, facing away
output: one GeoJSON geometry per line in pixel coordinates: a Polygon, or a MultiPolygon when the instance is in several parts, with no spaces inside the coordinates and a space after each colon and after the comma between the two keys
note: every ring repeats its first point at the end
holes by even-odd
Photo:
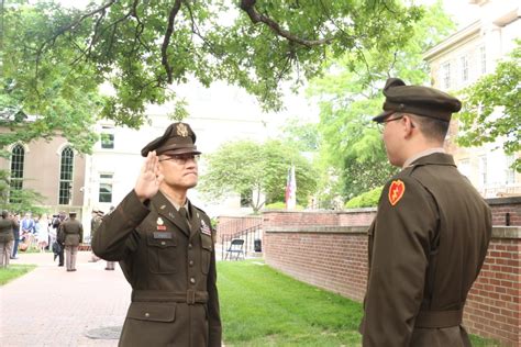
{"type": "Polygon", "coordinates": [[[390,164],[369,228],[363,346],[470,346],[467,293],[491,237],[490,209],[443,149],[459,100],[390,78],[380,123],[390,164]]]}

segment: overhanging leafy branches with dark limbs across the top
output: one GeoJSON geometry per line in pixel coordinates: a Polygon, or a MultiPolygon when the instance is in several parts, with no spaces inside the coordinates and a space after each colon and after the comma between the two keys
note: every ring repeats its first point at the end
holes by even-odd
{"type": "Polygon", "coordinates": [[[67,116],[64,101],[132,127],[188,79],[225,80],[277,110],[280,82],[317,76],[345,52],[393,52],[422,13],[396,0],[3,3],[0,81],[11,101],[0,108],[67,116]],[[104,82],[112,93],[90,96],[104,82]]]}

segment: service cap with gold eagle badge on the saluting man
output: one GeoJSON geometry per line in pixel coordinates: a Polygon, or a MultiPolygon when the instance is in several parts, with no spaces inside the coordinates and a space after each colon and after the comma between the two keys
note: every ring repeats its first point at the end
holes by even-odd
{"type": "Polygon", "coordinates": [[[201,154],[195,145],[196,134],[187,123],[170,124],[163,136],[157,137],[143,149],[141,155],[146,157],[148,152],[155,150],[159,154],[201,154]]]}

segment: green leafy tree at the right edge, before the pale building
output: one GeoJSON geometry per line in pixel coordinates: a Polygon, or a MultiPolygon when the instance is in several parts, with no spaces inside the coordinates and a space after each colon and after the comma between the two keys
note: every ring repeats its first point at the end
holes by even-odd
{"type": "MultiPolygon", "coordinates": [[[[521,150],[521,40],[494,74],[462,92],[463,110],[457,142],[465,147],[501,141],[505,153],[521,150]]],[[[521,158],[514,161],[521,172],[521,158]]]]}

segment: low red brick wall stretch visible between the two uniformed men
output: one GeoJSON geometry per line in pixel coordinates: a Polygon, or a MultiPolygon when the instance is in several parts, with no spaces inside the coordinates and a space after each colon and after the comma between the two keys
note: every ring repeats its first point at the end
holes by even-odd
{"type": "Polygon", "coordinates": [[[367,227],[265,228],[266,262],[291,277],[353,300],[364,299],[367,227]]]}

